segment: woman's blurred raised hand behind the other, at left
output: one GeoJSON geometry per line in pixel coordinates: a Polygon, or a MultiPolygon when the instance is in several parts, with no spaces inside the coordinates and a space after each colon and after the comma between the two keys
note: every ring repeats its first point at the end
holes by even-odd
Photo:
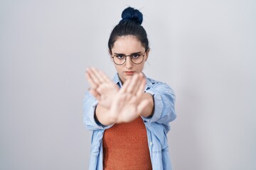
{"type": "Polygon", "coordinates": [[[114,97],[119,91],[117,84],[114,84],[106,74],[95,68],[88,68],[86,71],[86,78],[90,84],[90,93],[98,101],[98,104],[110,108],[114,97]]]}

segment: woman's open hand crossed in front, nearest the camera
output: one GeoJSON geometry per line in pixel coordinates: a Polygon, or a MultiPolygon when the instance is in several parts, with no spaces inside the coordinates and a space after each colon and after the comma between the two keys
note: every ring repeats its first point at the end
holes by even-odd
{"type": "Polygon", "coordinates": [[[110,107],[110,118],[113,123],[127,123],[139,117],[149,103],[142,100],[146,79],[143,74],[134,74],[132,79],[124,82],[110,107]]]}

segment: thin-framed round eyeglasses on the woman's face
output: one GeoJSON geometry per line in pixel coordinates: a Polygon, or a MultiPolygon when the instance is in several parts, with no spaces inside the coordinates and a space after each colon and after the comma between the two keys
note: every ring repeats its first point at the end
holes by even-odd
{"type": "MultiPolygon", "coordinates": [[[[146,53],[146,52],[145,52],[146,53]]],[[[144,55],[145,55],[144,53],[144,55]]],[[[134,64],[141,64],[144,60],[144,55],[142,53],[134,53],[132,55],[123,55],[123,54],[115,54],[112,59],[115,64],[122,65],[126,62],[127,57],[131,57],[131,60],[134,64]]]]}

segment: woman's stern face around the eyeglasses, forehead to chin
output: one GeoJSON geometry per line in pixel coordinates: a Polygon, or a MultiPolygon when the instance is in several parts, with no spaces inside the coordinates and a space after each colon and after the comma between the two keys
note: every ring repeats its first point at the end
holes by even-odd
{"type": "MultiPolygon", "coordinates": [[[[122,54],[122,55],[132,55],[134,53],[142,53],[144,55],[144,60],[140,64],[134,64],[131,60],[131,57],[126,57],[126,62],[122,65],[114,64],[115,69],[117,70],[117,73],[119,75],[119,78],[121,79],[122,83],[130,79],[133,74],[142,72],[144,68],[144,64],[147,60],[147,57],[149,55],[149,51],[145,52],[145,48],[142,46],[142,42],[137,40],[135,36],[132,35],[126,35],[117,38],[117,40],[114,42],[114,46],[112,47],[112,56],[116,54],[122,54]]],[[[114,62],[113,62],[114,63],[114,62]]]]}

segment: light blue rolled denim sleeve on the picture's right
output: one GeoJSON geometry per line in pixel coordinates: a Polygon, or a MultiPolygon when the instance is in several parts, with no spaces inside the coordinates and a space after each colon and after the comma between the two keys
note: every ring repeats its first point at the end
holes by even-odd
{"type": "Polygon", "coordinates": [[[144,121],[166,124],[176,119],[175,94],[169,85],[155,82],[145,92],[154,98],[154,113],[150,117],[143,118],[144,121]]]}

